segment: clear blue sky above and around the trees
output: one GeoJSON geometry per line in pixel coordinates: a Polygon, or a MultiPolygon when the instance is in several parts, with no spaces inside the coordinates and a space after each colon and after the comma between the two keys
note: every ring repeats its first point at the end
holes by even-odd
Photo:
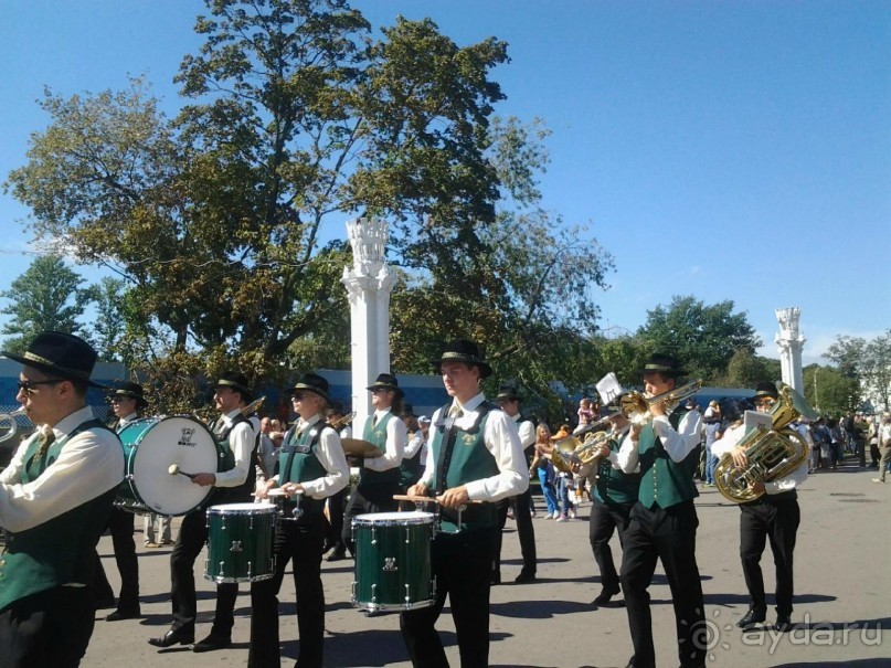
{"type": "MultiPolygon", "coordinates": [[[[545,208],[611,252],[602,327],[635,330],[673,295],[732,299],[776,357],[774,309],[800,306],[805,361],[891,327],[891,3],[364,0],[376,29],[431,17],[458,44],[495,35],[499,114],[552,130],[545,208]]],[[[70,95],[171,83],[199,0],[0,3],[0,174],[70,95]]],[[[0,194],[0,289],[33,259],[0,194]]],[[[89,279],[97,274],[77,268],[89,279]]]]}

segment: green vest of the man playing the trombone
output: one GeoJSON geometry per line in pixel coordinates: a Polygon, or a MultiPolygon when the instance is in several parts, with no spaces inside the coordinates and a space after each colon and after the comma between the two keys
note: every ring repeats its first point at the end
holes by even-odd
{"type": "MultiPolygon", "coordinates": [[[[686,411],[680,407],[669,415],[668,421],[676,430],[686,411]]],[[[653,423],[648,423],[640,432],[638,443],[640,460],[640,489],[638,500],[647,508],[656,503],[659,508],[671,508],[699,496],[693,483],[693,470],[697,465],[697,452],[691,450],[683,462],[676,463],[656,437],[653,423]]]]}

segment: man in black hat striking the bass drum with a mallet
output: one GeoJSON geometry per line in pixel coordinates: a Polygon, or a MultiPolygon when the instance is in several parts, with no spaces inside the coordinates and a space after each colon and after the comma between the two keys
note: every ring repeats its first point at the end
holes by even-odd
{"type": "MultiPolygon", "coordinates": [[[[194,563],[208,539],[204,509],[213,503],[237,503],[251,500],[254,489],[253,465],[256,460],[257,437],[251,422],[243,415],[244,409],[254,399],[247,379],[235,371],[227,371],[216,381],[213,403],[220,413],[211,425],[214,438],[224,456],[222,471],[202,471],[192,476],[192,483],[202,487],[214,486],[211,501],[182,519],[177,544],[170,554],[171,596],[173,623],[160,638],[150,638],[149,645],[170,647],[194,643],[198,602],[195,596],[194,563]]],[[[192,645],[193,651],[222,649],[232,644],[237,583],[223,582],[216,585],[216,611],[210,635],[192,645]]]]}

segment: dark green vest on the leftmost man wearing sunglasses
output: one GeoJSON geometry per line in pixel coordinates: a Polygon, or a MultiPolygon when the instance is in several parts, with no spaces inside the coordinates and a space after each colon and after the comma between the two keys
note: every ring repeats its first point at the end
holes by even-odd
{"type": "MultiPolygon", "coordinates": [[[[19,483],[25,485],[40,477],[59,458],[68,439],[91,428],[107,427],[98,420],[87,421],[67,437],[52,443],[41,458],[36,457],[40,444],[35,434],[26,446],[19,483]]],[[[42,524],[9,532],[6,551],[0,556],[0,611],[63,584],[88,585],[93,579],[96,543],[108,522],[116,496],[117,486],[42,524]]]]}

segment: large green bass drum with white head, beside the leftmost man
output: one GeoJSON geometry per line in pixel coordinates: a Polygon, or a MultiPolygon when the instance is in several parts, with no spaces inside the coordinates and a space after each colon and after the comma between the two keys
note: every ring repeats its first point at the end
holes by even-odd
{"type": "Polygon", "coordinates": [[[170,475],[170,466],[198,474],[219,468],[216,441],[193,417],[144,417],[119,433],[124,445],[125,475],[117,503],[130,512],[185,515],[200,508],[213,491],[185,476],[170,475]]]}

